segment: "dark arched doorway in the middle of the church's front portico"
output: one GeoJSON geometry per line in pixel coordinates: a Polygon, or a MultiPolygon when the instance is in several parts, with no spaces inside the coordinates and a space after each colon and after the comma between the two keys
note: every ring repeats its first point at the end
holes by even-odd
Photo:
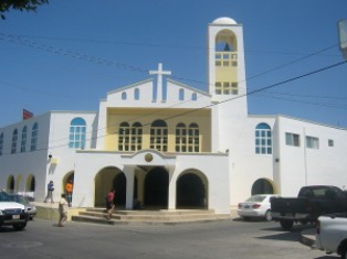
{"type": "Polygon", "coordinates": [[[162,168],[153,169],[145,179],[145,206],[168,207],[169,174],[162,168]]]}

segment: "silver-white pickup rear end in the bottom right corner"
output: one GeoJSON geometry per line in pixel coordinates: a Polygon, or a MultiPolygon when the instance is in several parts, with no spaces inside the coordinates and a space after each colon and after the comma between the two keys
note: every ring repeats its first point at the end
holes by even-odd
{"type": "Polygon", "coordinates": [[[347,258],[347,213],[318,217],[316,229],[317,249],[347,258]]]}

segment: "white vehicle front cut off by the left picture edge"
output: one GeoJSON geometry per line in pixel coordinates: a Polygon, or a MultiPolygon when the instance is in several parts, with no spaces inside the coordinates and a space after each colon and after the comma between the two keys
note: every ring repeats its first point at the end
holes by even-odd
{"type": "Polygon", "coordinates": [[[9,195],[0,190],[0,227],[12,226],[15,230],[25,228],[29,219],[23,204],[12,202],[9,195]]]}

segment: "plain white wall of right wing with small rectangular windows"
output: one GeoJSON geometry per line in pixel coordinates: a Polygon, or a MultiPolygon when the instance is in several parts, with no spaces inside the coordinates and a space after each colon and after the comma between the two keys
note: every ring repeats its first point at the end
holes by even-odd
{"type": "Polygon", "coordinates": [[[280,117],[280,177],[282,195],[297,195],[304,185],[347,186],[347,131],[309,121],[280,117]],[[285,143],[285,132],[297,133],[299,147],[285,143]],[[307,149],[305,136],[319,139],[319,149],[307,149]],[[334,147],[328,147],[328,140],[334,147]]]}

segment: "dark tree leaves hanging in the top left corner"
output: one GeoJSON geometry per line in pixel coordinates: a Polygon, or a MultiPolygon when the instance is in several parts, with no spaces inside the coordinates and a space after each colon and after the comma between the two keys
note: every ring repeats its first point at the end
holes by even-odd
{"type": "Polygon", "coordinates": [[[19,11],[36,11],[41,4],[49,3],[49,0],[0,0],[0,17],[4,20],[4,12],[10,9],[19,11]]]}

